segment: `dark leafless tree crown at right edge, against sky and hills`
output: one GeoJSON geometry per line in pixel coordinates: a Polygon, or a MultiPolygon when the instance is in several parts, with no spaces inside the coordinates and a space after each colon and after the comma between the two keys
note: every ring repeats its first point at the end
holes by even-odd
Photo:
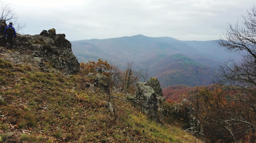
{"type": "Polygon", "coordinates": [[[222,63],[215,74],[216,83],[228,84],[232,90],[246,92],[247,96],[240,97],[240,100],[252,104],[256,113],[256,7],[252,8],[252,12],[247,11],[247,14],[247,17],[243,16],[244,27],[229,24],[224,38],[215,41],[227,51],[240,54],[243,60],[239,63],[222,63]]]}

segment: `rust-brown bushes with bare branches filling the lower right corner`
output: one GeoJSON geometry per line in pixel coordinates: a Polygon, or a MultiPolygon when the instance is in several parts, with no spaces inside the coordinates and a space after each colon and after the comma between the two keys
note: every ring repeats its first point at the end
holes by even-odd
{"type": "Polygon", "coordinates": [[[255,112],[250,104],[238,100],[238,91],[230,95],[229,90],[215,87],[213,91],[198,88],[189,95],[189,100],[195,110],[194,114],[200,120],[206,142],[248,142],[255,141],[255,112]]]}

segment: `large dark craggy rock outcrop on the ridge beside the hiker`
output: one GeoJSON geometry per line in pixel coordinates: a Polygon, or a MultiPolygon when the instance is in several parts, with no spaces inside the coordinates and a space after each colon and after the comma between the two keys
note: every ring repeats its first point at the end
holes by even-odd
{"type": "Polygon", "coordinates": [[[80,66],[72,53],[71,43],[65,34],[56,34],[55,29],[43,30],[40,35],[18,35],[14,49],[29,50],[39,65],[49,63],[67,74],[76,74],[80,66]]]}

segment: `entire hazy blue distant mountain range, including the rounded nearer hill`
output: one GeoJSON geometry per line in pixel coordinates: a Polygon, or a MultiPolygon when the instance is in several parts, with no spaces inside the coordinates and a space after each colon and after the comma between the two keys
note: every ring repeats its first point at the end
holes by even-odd
{"type": "Polygon", "coordinates": [[[219,48],[213,41],[181,41],[171,37],[135,35],[110,39],[70,41],[79,62],[106,60],[122,68],[134,62],[135,69],[149,69],[161,87],[211,84],[210,76],[219,62],[239,56],[219,48]]]}

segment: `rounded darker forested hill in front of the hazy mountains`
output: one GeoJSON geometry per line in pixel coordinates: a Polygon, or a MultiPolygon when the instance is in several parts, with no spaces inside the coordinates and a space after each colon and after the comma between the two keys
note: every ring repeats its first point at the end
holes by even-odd
{"type": "Polygon", "coordinates": [[[174,54],[157,61],[150,67],[150,75],[156,75],[165,88],[170,85],[200,86],[211,84],[212,67],[198,63],[183,55],[174,54]]]}

